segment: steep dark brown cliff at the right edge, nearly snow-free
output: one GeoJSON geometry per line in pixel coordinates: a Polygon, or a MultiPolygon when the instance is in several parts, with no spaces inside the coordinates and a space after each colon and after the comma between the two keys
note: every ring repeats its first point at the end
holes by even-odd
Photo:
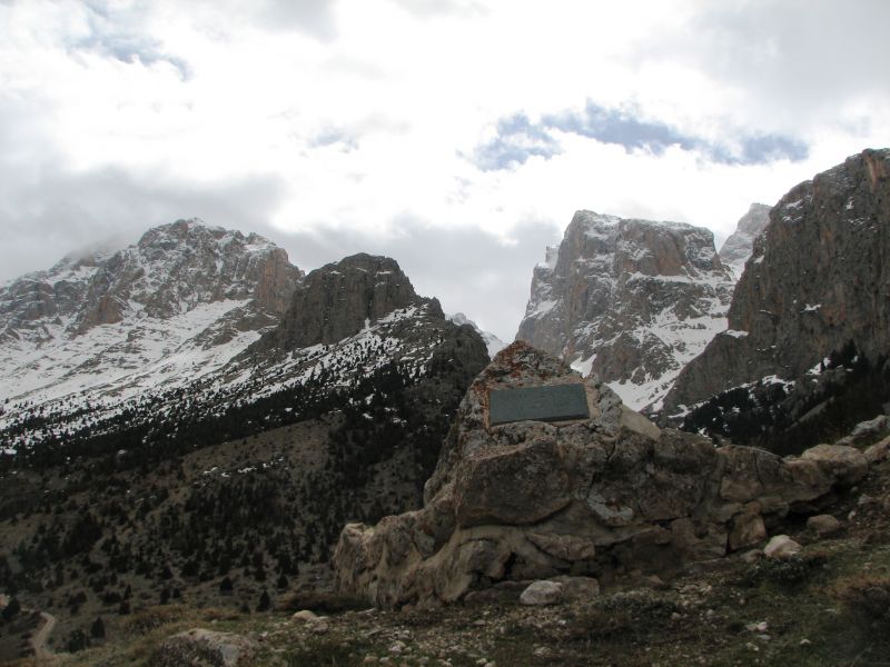
{"type": "Polygon", "coordinates": [[[890,350],[890,150],[867,150],[770,213],[716,336],[665,399],[679,411],[767,376],[802,377],[849,341],[890,350]]]}

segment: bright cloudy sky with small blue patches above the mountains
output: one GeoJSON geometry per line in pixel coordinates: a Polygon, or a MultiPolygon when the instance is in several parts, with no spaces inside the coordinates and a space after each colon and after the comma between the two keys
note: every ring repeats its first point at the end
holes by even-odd
{"type": "Polygon", "coordinates": [[[512,340],[578,209],[710,228],[890,145],[887,0],[0,0],[0,280],[198,217],[512,340]]]}

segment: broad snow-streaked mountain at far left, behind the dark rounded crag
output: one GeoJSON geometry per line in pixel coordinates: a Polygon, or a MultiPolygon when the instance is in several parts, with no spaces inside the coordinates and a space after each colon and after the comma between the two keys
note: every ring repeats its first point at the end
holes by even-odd
{"type": "Polygon", "coordinates": [[[181,385],[277,323],[299,278],[265,238],[200,220],[67,257],[0,288],[0,399],[181,385]]]}

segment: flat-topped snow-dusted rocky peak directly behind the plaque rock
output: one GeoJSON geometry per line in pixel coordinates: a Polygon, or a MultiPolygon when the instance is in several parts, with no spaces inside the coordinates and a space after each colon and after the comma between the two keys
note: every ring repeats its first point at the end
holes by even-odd
{"type": "Polygon", "coordinates": [[[725,328],[732,287],[706,229],[578,211],[535,267],[516,339],[596,374],[633,408],[657,407],[725,328]]]}

